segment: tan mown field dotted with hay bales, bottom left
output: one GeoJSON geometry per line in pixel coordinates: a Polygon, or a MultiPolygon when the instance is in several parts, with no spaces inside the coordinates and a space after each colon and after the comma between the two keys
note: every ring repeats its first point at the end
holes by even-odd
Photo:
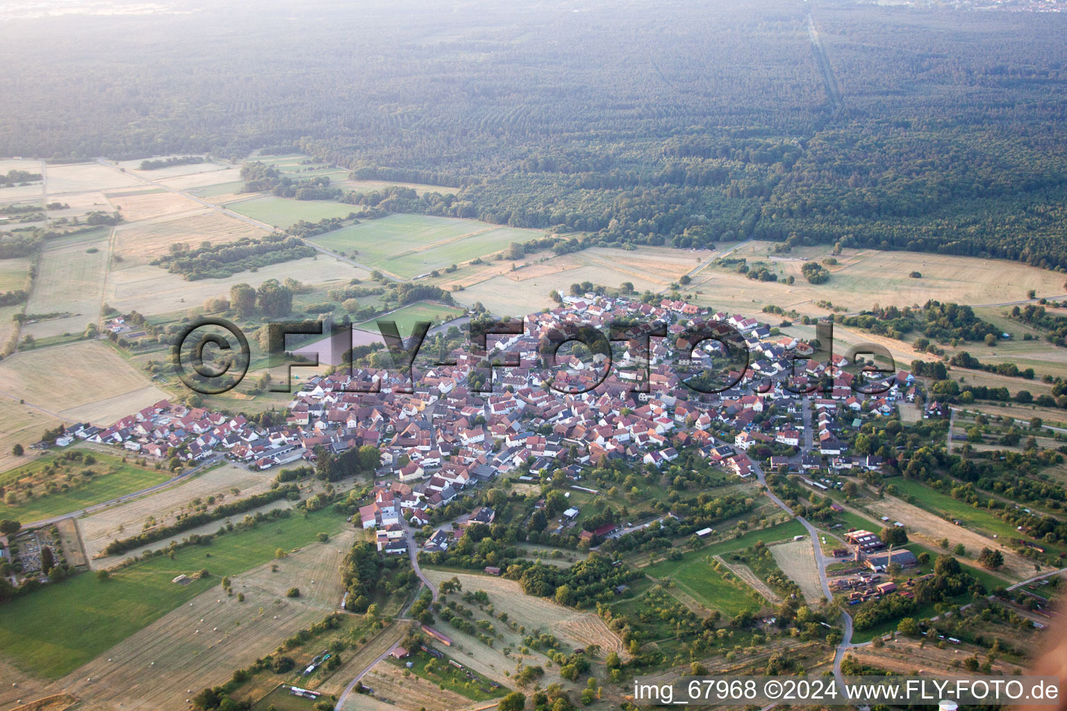
{"type": "Polygon", "coordinates": [[[232,576],[244,602],[212,587],[54,686],[89,699],[87,711],[186,708],[187,690],[222,683],[335,610],[341,595],[337,566],[351,543],[352,533],[345,532],[276,561],[277,572],[267,564],[232,576]],[[300,587],[300,598],[285,596],[292,586],[300,587]]]}

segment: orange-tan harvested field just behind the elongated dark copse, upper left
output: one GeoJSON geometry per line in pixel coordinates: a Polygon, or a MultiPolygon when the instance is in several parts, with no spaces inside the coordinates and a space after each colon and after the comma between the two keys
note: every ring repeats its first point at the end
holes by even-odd
{"type": "MultiPolygon", "coordinates": [[[[235,242],[242,237],[259,239],[266,233],[240,220],[201,207],[180,195],[171,192],[163,192],[161,195],[170,195],[181,200],[184,205],[188,204],[182,208],[186,212],[116,227],[115,253],[124,260],[115,265],[116,270],[147,264],[160,255],[169,254],[171,245],[175,242],[198,246],[202,242],[211,244],[235,242]]],[[[160,276],[166,274],[158,266],[155,269],[160,276]]]]}

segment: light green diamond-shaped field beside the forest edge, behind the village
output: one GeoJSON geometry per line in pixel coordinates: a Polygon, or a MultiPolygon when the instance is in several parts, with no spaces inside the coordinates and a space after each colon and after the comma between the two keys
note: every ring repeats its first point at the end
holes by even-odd
{"type": "Polygon", "coordinates": [[[474,220],[391,214],[317,235],[312,242],[362,264],[411,279],[433,270],[488,257],[512,242],[541,237],[532,229],[499,227],[474,220]]]}

